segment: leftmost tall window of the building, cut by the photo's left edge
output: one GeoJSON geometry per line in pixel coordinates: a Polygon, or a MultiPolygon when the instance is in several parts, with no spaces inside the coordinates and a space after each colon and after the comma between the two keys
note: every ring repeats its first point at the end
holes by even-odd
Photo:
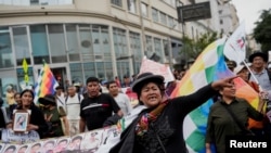
{"type": "Polygon", "coordinates": [[[0,27],[0,68],[14,66],[9,27],[0,27]]]}

